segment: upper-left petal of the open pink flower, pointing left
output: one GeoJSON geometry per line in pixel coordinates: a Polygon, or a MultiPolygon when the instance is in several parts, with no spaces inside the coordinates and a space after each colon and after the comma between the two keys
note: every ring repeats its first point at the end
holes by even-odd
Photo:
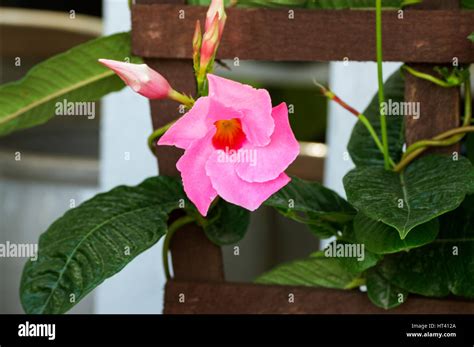
{"type": "Polygon", "coordinates": [[[211,128],[215,129],[215,121],[242,117],[241,112],[225,107],[217,100],[202,97],[160,138],[158,145],[186,149],[193,141],[203,138],[211,128]]]}

